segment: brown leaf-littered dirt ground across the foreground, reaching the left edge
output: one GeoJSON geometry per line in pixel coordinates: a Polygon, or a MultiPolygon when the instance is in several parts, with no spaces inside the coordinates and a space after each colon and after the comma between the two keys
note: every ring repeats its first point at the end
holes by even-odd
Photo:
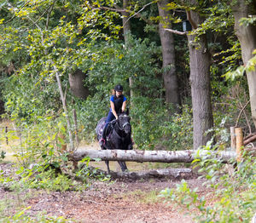
{"type": "MultiPolygon", "coordinates": [[[[0,171],[11,171],[11,164],[0,164],[0,171]]],[[[179,180],[112,180],[95,181],[83,192],[45,192],[30,190],[9,192],[0,185],[0,201],[13,207],[28,207],[26,214],[37,215],[44,211],[49,216],[64,216],[70,222],[86,223],[174,223],[193,222],[189,215],[175,208],[172,203],[163,203],[156,194],[166,187],[172,188],[179,180]],[[153,196],[150,197],[150,194],[153,196]],[[148,197],[148,198],[147,198],[148,197]],[[14,202],[16,205],[14,205],[14,202]]],[[[187,180],[192,188],[205,193],[202,180],[187,180]]],[[[15,209],[8,209],[9,215],[15,209]]],[[[1,218],[0,218],[1,222],[1,218]]]]}

